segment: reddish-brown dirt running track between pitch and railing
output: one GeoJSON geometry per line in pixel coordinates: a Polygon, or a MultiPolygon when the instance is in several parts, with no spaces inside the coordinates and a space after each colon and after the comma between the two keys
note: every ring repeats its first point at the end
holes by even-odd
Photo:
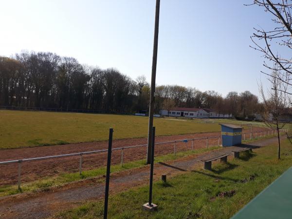
{"type": "MultiPolygon", "coordinates": [[[[264,128],[253,128],[253,131],[264,130],[264,128]]],[[[247,131],[247,130],[246,130],[247,131]]],[[[172,135],[156,137],[155,142],[167,142],[183,139],[219,136],[220,132],[196,133],[185,135],[172,135]]],[[[249,134],[246,134],[249,138],[249,134]]],[[[112,147],[135,146],[147,144],[146,138],[114,140],[112,147]]],[[[176,151],[190,150],[192,143],[177,143],[176,151]]],[[[221,144],[221,143],[220,143],[221,144]]],[[[209,139],[209,146],[217,146],[218,138],[209,139]]],[[[194,141],[194,149],[206,147],[206,140],[194,141]]],[[[77,143],[56,146],[37,146],[15,149],[0,150],[0,161],[18,160],[24,158],[45,157],[59,154],[78,153],[84,151],[107,149],[108,142],[77,143]]],[[[155,147],[155,156],[172,153],[173,143],[163,144],[155,147]]],[[[129,148],[124,150],[124,162],[135,161],[146,158],[146,146],[129,148]]],[[[82,170],[93,169],[106,165],[107,153],[96,153],[83,155],[82,170]]],[[[121,150],[112,152],[111,164],[121,162],[121,150]]],[[[48,159],[42,161],[23,162],[21,164],[21,183],[39,180],[46,176],[56,176],[62,173],[77,172],[79,168],[79,156],[48,159]]],[[[18,164],[2,164],[0,166],[0,185],[16,184],[18,179],[18,164]]]]}

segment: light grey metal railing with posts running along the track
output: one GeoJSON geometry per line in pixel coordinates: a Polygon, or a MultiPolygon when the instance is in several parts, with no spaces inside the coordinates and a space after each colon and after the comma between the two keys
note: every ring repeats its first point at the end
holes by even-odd
{"type": "MultiPolygon", "coordinates": [[[[286,130],[286,129],[285,129],[286,130]]],[[[262,132],[264,131],[264,136],[266,136],[266,132],[268,133],[268,135],[270,135],[270,130],[262,130],[262,131],[256,131],[256,132],[245,132],[242,133],[243,134],[243,140],[246,140],[245,135],[246,134],[250,134],[250,139],[254,138],[253,137],[253,133],[257,133],[260,132],[260,136],[258,137],[262,137],[262,132]]],[[[281,130],[281,132],[283,132],[284,130],[281,130]]],[[[273,135],[276,134],[276,130],[271,130],[271,133],[273,135]],[[275,131],[275,132],[274,132],[275,131]]],[[[183,143],[187,143],[189,141],[192,142],[192,151],[194,150],[194,141],[196,140],[204,140],[206,139],[206,148],[208,149],[209,146],[209,139],[214,139],[214,138],[218,138],[218,146],[220,146],[220,138],[221,136],[210,136],[210,137],[202,137],[202,138],[192,138],[192,139],[183,139],[183,140],[175,140],[175,141],[168,141],[168,142],[159,142],[159,143],[155,143],[155,145],[162,145],[162,144],[172,144],[173,143],[173,152],[174,155],[176,155],[176,147],[177,147],[177,143],[183,142],[183,143]]],[[[136,148],[136,147],[144,147],[147,146],[147,144],[144,145],[136,145],[136,146],[124,146],[124,147],[116,147],[116,148],[112,148],[111,151],[114,150],[121,150],[121,165],[123,166],[124,163],[124,150],[125,149],[129,149],[129,148],[136,148]]],[[[63,158],[63,157],[70,157],[70,156],[79,156],[79,174],[82,174],[82,156],[83,155],[88,155],[88,154],[94,154],[94,153],[102,153],[102,152],[107,152],[108,149],[103,149],[103,150],[93,150],[93,151],[85,151],[85,152],[78,152],[78,153],[71,153],[71,154],[60,154],[60,155],[54,155],[54,156],[46,156],[46,157],[36,157],[36,158],[26,158],[26,159],[19,159],[19,160],[11,160],[11,161],[3,161],[0,162],[0,164],[14,164],[14,163],[18,163],[18,189],[20,190],[20,183],[21,183],[21,164],[22,162],[29,162],[29,161],[39,161],[39,160],[47,160],[47,159],[55,159],[55,158],[63,158]]]]}

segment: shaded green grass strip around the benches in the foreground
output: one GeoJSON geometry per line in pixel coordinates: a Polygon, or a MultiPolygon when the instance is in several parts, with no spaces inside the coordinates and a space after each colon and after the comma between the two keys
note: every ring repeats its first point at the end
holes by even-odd
{"type": "MultiPolygon", "coordinates": [[[[287,140],[282,143],[281,160],[276,157],[277,146],[266,146],[228,164],[215,164],[212,171],[196,169],[168,179],[165,184],[155,182],[153,203],[158,204],[157,212],[142,210],[142,204],[148,200],[148,186],[110,196],[108,217],[229,219],[291,166],[291,147],[287,140]],[[224,192],[226,196],[222,195],[224,192]]],[[[56,217],[102,218],[103,201],[82,204],[56,217]]]]}

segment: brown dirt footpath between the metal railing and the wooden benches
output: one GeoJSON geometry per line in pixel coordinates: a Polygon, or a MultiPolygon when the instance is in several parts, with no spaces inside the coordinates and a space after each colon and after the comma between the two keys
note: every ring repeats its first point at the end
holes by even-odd
{"type": "MultiPolygon", "coordinates": [[[[253,142],[248,146],[253,148],[276,142],[276,138],[264,139],[253,142]]],[[[196,157],[187,157],[167,162],[168,166],[155,164],[154,179],[160,179],[162,173],[171,176],[182,174],[184,171],[189,171],[195,166],[202,165],[202,158],[219,156],[225,153],[230,154],[235,148],[237,147],[225,147],[196,157]]],[[[231,158],[229,157],[229,159],[231,158]]],[[[113,173],[110,178],[110,194],[146,184],[148,183],[148,177],[149,166],[113,173]]],[[[104,181],[104,177],[101,176],[90,180],[69,183],[63,187],[53,188],[46,192],[18,194],[0,198],[0,218],[47,218],[60,210],[68,210],[85,201],[100,200],[104,195],[104,181]]]]}

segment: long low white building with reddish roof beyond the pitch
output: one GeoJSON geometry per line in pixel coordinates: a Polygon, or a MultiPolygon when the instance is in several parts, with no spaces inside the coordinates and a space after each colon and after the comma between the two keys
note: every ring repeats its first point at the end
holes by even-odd
{"type": "Polygon", "coordinates": [[[175,107],[171,110],[160,110],[161,115],[188,118],[230,118],[232,115],[220,114],[214,109],[175,107]]]}

